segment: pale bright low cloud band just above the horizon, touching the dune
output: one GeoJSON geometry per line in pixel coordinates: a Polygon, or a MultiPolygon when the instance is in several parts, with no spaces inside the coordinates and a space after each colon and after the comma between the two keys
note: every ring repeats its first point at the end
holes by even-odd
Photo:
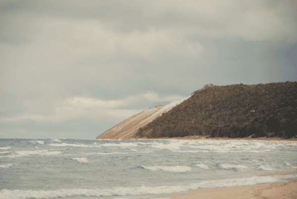
{"type": "Polygon", "coordinates": [[[39,112],[36,110],[44,110],[43,103],[35,104],[35,108],[31,108],[31,102],[25,102],[24,104],[29,106],[23,113],[18,114],[14,117],[0,117],[2,123],[16,123],[33,121],[35,123],[52,123],[52,124],[63,124],[67,121],[79,118],[87,118],[91,121],[98,121],[102,119],[125,120],[132,115],[141,112],[143,109],[125,109],[135,103],[150,102],[162,102],[169,100],[182,99],[183,96],[172,95],[159,97],[157,94],[149,92],[145,94],[129,96],[120,100],[101,100],[91,97],[76,96],[67,98],[65,100],[56,101],[48,105],[49,112],[39,112]],[[51,105],[51,106],[50,106],[51,105]],[[40,106],[40,107],[39,107],[40,106]]]}

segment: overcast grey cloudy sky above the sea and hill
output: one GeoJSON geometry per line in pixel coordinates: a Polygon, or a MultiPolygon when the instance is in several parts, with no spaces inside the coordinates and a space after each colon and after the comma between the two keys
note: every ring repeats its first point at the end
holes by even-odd
{"type": "Polygon", "coordinates": [[[297,80],[296,0],[1,0],[0,138],[93,139],[205,84],[297,80]]]}

